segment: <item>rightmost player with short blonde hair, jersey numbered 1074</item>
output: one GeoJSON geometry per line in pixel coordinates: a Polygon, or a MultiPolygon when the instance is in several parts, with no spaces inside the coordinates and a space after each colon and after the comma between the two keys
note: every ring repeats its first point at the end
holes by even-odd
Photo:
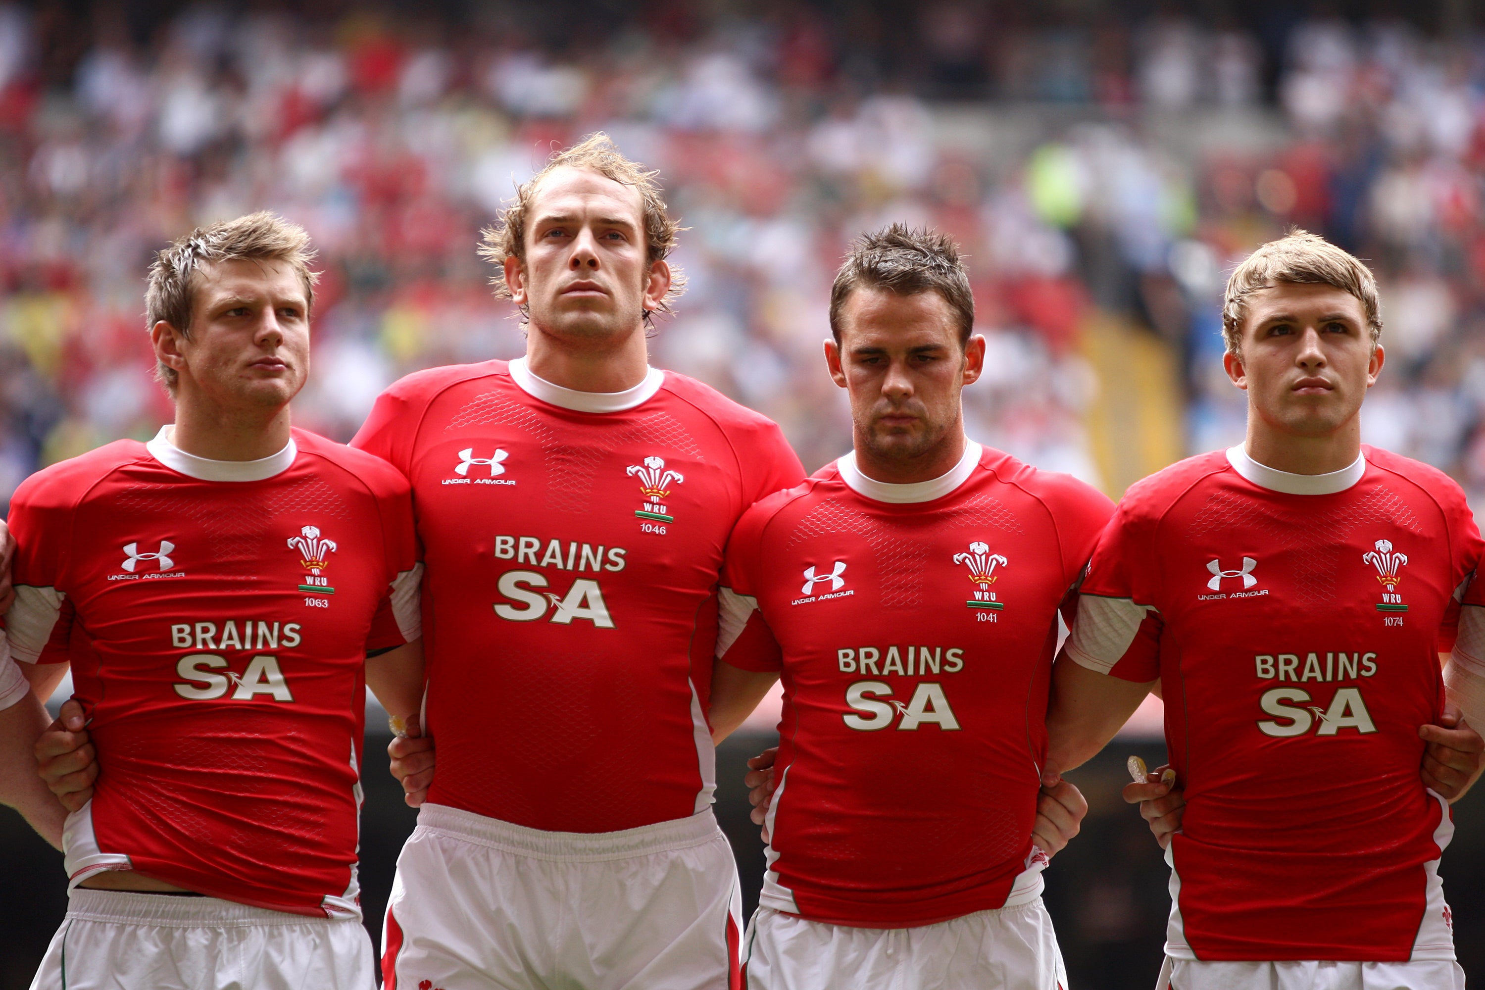
{"type": "Polygon", "coordinates": [[[1360,442],[1384,361],[1360,261],[1302,232],[1264,245],[1224,324],[1247,439],[1126,493],[1048,761],[1083,763],[1163,687],[1185,806],[1161,987],[1463,990],[1437,861],[1479,739],[1427,723],[1479,531],[1442,472],[1360,442]]]}

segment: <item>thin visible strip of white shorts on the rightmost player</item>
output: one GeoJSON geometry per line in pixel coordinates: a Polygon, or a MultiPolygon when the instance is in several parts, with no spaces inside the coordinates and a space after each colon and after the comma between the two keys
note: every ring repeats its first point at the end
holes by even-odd
{"type": "Polygon", "coordinates": [[[1464,971],[1449,959],[1197,962],[1166,956],[1155,990],[1464,990],[1464,971]]]}

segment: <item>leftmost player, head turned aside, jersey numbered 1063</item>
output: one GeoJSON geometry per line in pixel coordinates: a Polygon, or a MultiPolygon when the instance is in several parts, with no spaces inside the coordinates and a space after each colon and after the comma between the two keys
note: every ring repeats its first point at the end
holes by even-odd
{"type": "Polygon", "coordinates": [[[71,668],[89,726],[59,748],[97,754],[33,987],[374,984],[362,698],[417,709],[420,566],[405,479],[290,424],[310,258],[266,212],[162,251],[146,306],[175,423],[10,503],[10,650],[39,698],[71,668]]]}

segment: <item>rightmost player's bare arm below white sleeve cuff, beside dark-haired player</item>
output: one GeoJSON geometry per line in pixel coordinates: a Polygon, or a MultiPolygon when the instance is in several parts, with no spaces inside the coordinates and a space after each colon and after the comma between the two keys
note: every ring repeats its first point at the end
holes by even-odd
{"type": "Polygon", "coordinates": [[[1097,755],[1154,686],[1099,674],[1059,656],[1047,709],[1047,769],[1065,773],[1097,755]]]}

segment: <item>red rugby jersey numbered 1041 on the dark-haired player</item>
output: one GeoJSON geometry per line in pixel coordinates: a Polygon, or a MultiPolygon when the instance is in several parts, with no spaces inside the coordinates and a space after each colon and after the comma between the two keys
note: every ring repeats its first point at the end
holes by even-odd
{"type": "Polygon", "coordinates": [[[1111,511],[970,444],[915,485],[846,454],[742,517],[717,646],[783,672],[765,907],[906,928],[1041,892],[1057,607],[1111,511]]]}

